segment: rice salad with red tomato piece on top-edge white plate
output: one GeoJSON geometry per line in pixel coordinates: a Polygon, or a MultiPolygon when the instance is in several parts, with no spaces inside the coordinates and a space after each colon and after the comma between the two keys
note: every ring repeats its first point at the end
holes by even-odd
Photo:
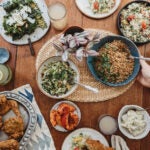
{"type": "Polygon", "coordinates": [[[114,6],[115,0],[89,0],[93,13],[108,13],[114,6]]]}

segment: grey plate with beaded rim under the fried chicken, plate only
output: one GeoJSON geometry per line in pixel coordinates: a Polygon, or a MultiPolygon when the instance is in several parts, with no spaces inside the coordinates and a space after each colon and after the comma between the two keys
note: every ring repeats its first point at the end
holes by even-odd
{"type": "MultiPolygon", "coordinates": [[[[23,121],[24,121],[24,135],[19,141],[19,150],[24,150],[26,144],[28,143],[31,135],[34,132],[34,129],[36,127],[37,123],[37,115],[36,112],[32,106],[32,104],[25,99],[24,97],[20,96],[19,94],[5,91],[5,92],[0,92],[0,95],[6,95],[7,99],[13,99],[18,102],[19,104],[19,110],[21,112],[23,121]]],[[[9,111],[7,114],[3,116],[3,120],[5,121],[8,118],[15,117],[15,114],[13,111],[9,111]]],[[[8,136],[0,131],[0,141],[7,140],[8,136]]]]}

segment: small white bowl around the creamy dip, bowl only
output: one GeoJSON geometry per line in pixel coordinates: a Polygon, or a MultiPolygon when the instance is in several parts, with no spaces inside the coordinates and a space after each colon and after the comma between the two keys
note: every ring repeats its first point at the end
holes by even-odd
{"type": "Polygon", "coordinates": [[[126,105],[126,106],[122,107],[119,112],[119,115],[118,115],[118,126],[119,126],[120,131],[129,139],[136,139],[136,140],[143,139],[144,137],[147,136],[147,134],[150,131],[150,116],[149,116],[149,114],[147,113],[147,111],[144,110],[144,119],[146,121],[146,127],[145,127],[144,132],[137,136],[133,136],[126,128],[121,126],[121,122],[122,122],[121,118],[125,113],[127,113],[128,110],[143,110],[143,108],[140,106],[137,106],[137,105],[126,105]]]}

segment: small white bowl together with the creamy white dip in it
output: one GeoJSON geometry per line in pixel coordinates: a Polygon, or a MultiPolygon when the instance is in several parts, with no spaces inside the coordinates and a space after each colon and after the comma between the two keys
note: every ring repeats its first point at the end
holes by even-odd
{"type": "Polygon", "coordinates": [[[142,139],[149,133],[150,116],[137,105],[124,106],[118,116],[120,131],[129,139],[142,139]]]}

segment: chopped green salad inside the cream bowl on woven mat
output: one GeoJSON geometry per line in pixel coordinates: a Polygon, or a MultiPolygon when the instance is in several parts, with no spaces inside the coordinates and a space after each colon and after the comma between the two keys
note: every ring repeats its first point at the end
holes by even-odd
{"type": "Polygon", "coordinates": [[[68,62],[50,62],[44,66],[41,73],[41,85],[47,93],[53,96],[66,94],[75,85],[76,72],[68,62]]]}

